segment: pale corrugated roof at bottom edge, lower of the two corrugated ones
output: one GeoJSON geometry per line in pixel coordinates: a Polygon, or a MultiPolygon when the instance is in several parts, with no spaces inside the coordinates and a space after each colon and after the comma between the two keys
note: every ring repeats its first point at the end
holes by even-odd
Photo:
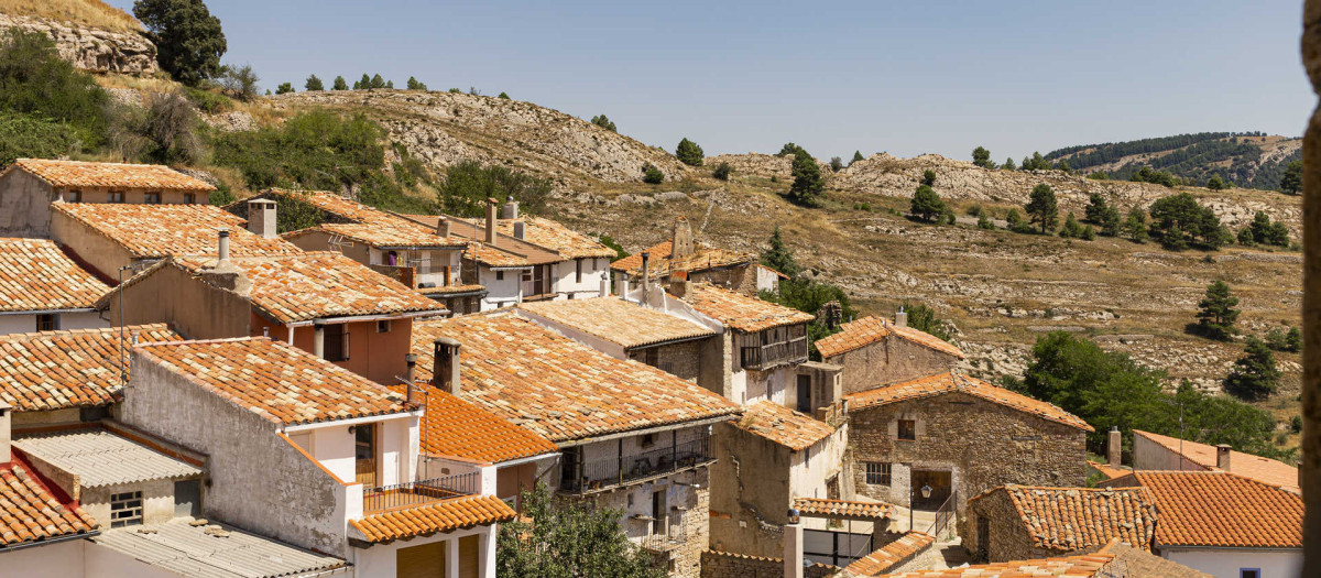
{"type": "Polygon", "coordinates": [[[226,524],[190,525],[190,517],[165,524],[116,528],[92,538],[144,563],[201,578],[300,577],[349,566],[343,560],[312,553],[226,524]],[[213,536],[209,528],[223,529],[213,536]]]}

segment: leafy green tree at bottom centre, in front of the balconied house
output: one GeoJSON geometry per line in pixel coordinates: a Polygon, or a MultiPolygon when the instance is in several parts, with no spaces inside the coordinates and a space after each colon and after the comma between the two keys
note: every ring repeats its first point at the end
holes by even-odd
{"type": "Polygon", "coordinates": [[[624,532],[624,512],[556,498],[539,482],[519,500],[522,516],[499,525],[495,574],[509,577],[664,578],[624,532]]]}

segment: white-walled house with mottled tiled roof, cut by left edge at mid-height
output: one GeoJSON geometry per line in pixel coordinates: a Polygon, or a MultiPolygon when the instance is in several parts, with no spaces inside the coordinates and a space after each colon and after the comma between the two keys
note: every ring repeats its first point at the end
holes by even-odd
{"type": "Polygon", "coordinates": [[[54,241],[0,239],[0,335],[106,327],[95,304],[108,290],[54,241]]]}

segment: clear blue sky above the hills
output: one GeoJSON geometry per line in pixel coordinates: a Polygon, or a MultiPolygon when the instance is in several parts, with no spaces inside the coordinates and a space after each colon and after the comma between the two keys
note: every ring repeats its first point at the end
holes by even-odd
{"type": "MultiPolygon", "coordinates": [[[[131,9],[132,0],[110,0],[131,9]]],[[[210,0],[263,87],[380,73],[507,91],[674,150],[997,161],[1201,131],[1301,135],[1301,1],[210,0]]]]}

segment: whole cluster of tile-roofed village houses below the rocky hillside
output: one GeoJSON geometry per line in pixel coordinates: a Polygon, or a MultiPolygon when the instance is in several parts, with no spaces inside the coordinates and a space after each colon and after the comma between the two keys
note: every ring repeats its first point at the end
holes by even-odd
{"type": "Polygon", "coordinates": [[[1299,575],[1297,467],[1120,424],[1089,458],[908,311],[765,301],[683,218],[617,259],[514,198],[213,190],[0,173],[0,575],[490,578],[538,491],[675,578],[1299,575]]]}

